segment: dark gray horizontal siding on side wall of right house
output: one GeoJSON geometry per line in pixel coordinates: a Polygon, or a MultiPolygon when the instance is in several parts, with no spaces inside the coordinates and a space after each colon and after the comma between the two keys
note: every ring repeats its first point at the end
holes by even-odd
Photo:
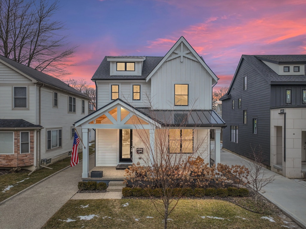
{"type": "Polygon", "coordinates": [[[223,129],[223,148],[245,157],[250,157],[251,146],[263,150],[264,164],[270,166],[270,85],[242,59],[237,75],[230,89],[230,99],[222,101],[222,119],[227,127],[223,129]],[[247,76],[247,90],[243,77],[247,76]],[[241,108],[238,109],[238,99],[241,108]],[[234,109],[232,109],[234,100],[234,109]],[[247,110],[247,124],[243,124],[243,111],[247,110]],[[257,134],[253,134],[253,118],[257,118],[257,134]],[[238,126],[238,143],[231,142],[231,126],[238,126]]]}

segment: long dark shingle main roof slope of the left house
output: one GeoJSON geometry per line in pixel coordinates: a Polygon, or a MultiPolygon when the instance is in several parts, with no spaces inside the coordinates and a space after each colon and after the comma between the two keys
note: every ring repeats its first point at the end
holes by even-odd
{"type": "Polygon", "coordinates": [[[2,61],[5,61],[6,63],[8,63],[9,65],[12,65],[14,68],[17,68],[19,71],[24,72],[26,75],[32,77],[33,79],[39,81],[40,83],[44,83],[53,87],[57,87],[59,89],[65,90],[68,93],[71,92],[73,94],[77,94],[79,96],[88,98],[86,95],[84,95],[83,93],[81,93],[78,90],[75,90],[73,87],[69,87],[68,84],[64,83],[63,81],[54,78],[52,76],[49,76],[43,72],[39,72],[33,68],[30,68],[28,66],[25,66],[23,64],[20,64],[16,61],[13,61],[9,58],[6,58],[4,56],[0,55],[0,59],[2,61]]]}

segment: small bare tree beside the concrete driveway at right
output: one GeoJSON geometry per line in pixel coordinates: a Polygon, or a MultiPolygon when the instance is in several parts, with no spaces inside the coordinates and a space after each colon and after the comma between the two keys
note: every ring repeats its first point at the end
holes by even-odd
{"type": "Polygon", "coordinates": [[[259,146],[259,149],[256,150],[256,146],[253,148],[251,146],[252,152],[250,157],[251,161],[246,162],[246,166],[249,168],[249,174],[247,176],[247,182],[250,187],[252,187],[255,194],[255,204],[257,204],[258,192],[265,187],[267,184],[272,183],[275,180],[275,174],[268,174],[263,168],[263,150],[259,146]]]}

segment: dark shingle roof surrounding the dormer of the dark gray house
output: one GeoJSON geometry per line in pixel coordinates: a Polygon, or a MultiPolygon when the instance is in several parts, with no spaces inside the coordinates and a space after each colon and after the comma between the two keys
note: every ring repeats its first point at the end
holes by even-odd
{"type": "MultiPolygon", "coordinates": [[[[292,61],[294,58],[296,58],[297,60],[301,60],[302,59],[301,56],[304,56],[303,58],[306,61],[306,55],[260,55],[261,59],[263,59],[264,57],[268,57],[268,58],[273,57],[275,60],[277,59],[276,56],[281,56],[280,58],[284,61],[286,61],[286,60],[292,61]],[[285,59],[286,56],[288,57],[288,59],[285,59]],[[293,57],[293,56],[296,56],[296,57],[293,57]]],[[[304,72],[304,75],[279,76],[276,72],[274,72],[271,68],[269,68],[265,63],[263,63],[263,61],[259,60],[256,57],[259,57],[259,55],[242,55],[242,58],[244,58],[246,61],[248,61],[248,63],[253,65],[253,67],[264,78],[266,78],[269,83],[273,83],[273,82],[286,82],[286,83],[289,83],[289,82],[293,82],[293,83],[294,82],[306,82],[305,72],[304,72]]]]}

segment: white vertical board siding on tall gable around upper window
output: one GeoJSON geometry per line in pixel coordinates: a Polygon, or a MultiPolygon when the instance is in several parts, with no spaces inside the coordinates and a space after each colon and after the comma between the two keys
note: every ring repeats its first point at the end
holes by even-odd
{"type": "Polygon", "coordinates": [[[200,62],[177,57],[163,63],[151,77],[154,109],[174,108],[174,84],[188,84],[188,106],[175,109],[211,109],[212,78],[200,62]]]}

